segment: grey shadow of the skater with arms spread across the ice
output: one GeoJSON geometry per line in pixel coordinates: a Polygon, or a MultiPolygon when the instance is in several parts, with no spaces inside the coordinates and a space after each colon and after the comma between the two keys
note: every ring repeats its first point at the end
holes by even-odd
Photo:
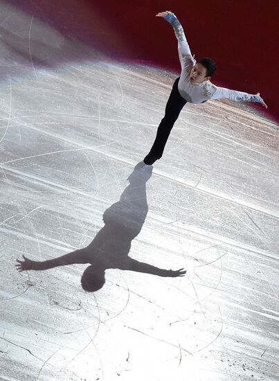
{"type": "Polygon", "coordinates": [[[81,279],[82,288],[89,292],[99,290],[104,285],[106,269],[170,277],[186,274],[183,269],[160,269],[129,257],[132,240],[140,233],[147,215],[146,183],[152,176],[152,169],[152,166],[143,166],[142,162],[137,164],[128,177],[129,185],[120,200],[105,211],[105,226],[87,247],[42,262],[24,256],[24,260],[17,260],[17,269],[45,270],[74,263],[90,263],[81,279]]]}

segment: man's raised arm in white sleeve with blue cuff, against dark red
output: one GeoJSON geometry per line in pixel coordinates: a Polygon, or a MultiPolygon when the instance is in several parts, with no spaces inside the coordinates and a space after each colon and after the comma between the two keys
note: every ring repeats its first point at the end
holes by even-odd
{"type": "Polygon", "coordinates": [[[163,17],[163,19],[168,21],[168,23],[172,25],[172,28],[174,28],[174,33],[178,41],[179,60],[182,69],[183,67],[188,66],[188,64],[195,65],[196,61],[192,56],[184,30],[176,15],[170,10],[166,10],[165,12],[159,12],[156,17],[163,17]]]}

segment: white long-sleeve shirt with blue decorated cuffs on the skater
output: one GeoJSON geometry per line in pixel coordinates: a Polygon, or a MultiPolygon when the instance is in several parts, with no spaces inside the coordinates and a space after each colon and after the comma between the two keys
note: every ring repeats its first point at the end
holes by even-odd
{"type": "Polygon", "coordinates": [[[191,83],[190,71],[197,62],[192,56],[183,28],[177,17],[174,14],[170,14],[169,17],[166,17],[166,20],[174,28],[174,33],[178,40],[179,60],[181,63],[181,75],[178,88],[179,93],[184,99],[190,103],[204,103],[206,100],[221,98],[227,98],[237,102],[260,102],[261,98],[258,95],[230,90],[225,87],[217,87],[209,80],[201,83],[191,83]]]}

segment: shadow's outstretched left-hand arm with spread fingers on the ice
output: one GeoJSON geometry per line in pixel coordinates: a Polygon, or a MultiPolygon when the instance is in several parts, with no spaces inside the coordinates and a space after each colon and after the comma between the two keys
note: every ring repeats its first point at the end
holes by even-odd
{"type": "Polygon", "coordinates": [[[69,254],[49,260],[31,260],[23,256],[23,260],[17,259],[17,269],[19,272],[24,270],[46,270],[57,266],[73,265],[74,263],[89,263],[88,256],[84,250],[72,251],[69,254]]]}

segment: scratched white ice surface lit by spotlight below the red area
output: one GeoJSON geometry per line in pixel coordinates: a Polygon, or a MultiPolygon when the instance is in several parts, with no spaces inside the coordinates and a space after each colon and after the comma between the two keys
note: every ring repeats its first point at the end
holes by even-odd
{"type": "Polygon", "coordinates": [[[278,380],[276,125],[187,105],[134,170],[174,74],[1,6],[1,380],[278,380]]]}

